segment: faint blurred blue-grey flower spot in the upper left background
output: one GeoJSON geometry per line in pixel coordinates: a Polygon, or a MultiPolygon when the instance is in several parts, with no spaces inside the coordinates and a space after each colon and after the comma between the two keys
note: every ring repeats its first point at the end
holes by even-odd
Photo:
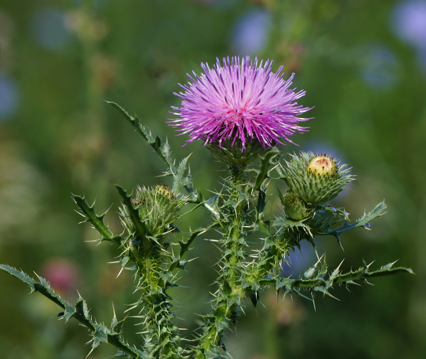
{"type": "Polygon", "coordinates": [[[55,8],[41,9],[32,14],[30,31],[37,43],[48,50],[63,49],[72,39],[65,26],[65,14],[55,8]]]}

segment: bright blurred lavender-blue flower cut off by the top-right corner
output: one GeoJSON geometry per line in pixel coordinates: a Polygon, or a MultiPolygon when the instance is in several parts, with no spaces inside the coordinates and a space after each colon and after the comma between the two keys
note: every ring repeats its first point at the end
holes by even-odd
{"type": "Polygon", "coordinates": [[[394,8],[392,25],[398,37],[426,49],[426,0],[408,0],[394,8]]]}

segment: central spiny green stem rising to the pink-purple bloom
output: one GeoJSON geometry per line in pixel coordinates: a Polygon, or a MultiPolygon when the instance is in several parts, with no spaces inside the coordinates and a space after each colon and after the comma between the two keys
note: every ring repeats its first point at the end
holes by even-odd
{"type": "Polygon", "coordinates": [[[229,184],[229,198],[225,202],[225,221],[222,223],[223,256],[220,266],[221,275],[217,279],[219,289],[213,300],[213,311],[205,316],[203,333],[196,348],[196,358],[214,358],[220,356],[218,348],[224,348],[222,334],[229,328],[229,322],[235,324],[236,309],[241,305],[248,293],[242,289],[242,266],[245,261],[243,247],[246,231],[244,229],[247,202],[240,200],[240,194],[247,185],[244,167],[231,167],[229,184]]]}

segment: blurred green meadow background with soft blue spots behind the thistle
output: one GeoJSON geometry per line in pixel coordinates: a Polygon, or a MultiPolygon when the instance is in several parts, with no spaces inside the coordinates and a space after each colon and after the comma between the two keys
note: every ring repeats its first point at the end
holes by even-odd
{"type": "MultiPolygon", "coordinates": [[[[225,172],[199,143],[181,147],[165,124],[186,72],[215,57],[257,55],[284,65],[300,100],[315,106],[301,149],[331,153],[357,175],[337,204],[354,220],[383,198],[388,213],[345,234],[343,247],[318,238],[320,254],[343,270],[362,259],[374,265],[399,259],[415,276],[374,279],[335,288],[341,301],[311,302],[273,290],[264,304],[248,303],[226,343],[235,359],[425,358],[426,353],[426,1],[391,0],[0,0],[0,263],[46,276],[66,299],[78,288],[100,322],[119,318],[136,300],[130,273],[115,279],[119,251],[88,242],[96,233],[78,224],[70,193],[96,198],[110,228],[121,225],[119,196],[127,189],[168,183],[151,147],[104,103],[136,113],[166,136],[176,158],[193,152],[196,186],[219,189],[225,172]]],[[[283,152],[297,151],[286,146],[283,152]]],[[[275,182],[271,184],[273,189],[275,182]]],[[[282,185],[282,184],[281,184],[282,185]]],[[[276,198],[271,197],[273,214],[276,198]]],[[[178,224],[184,232],[207,224],[203,210],[178,224]]],[[[181,236],[184,234],[181,234],[181,236]]],[[[214,233],[205,235],[212,238],[214,233]]],[[[290,275],[315,261],[311,248],[292,257],[290,275]]],[[[199,238],[172,296],[179,326],[197,327],[195,313],[210,310],[209,286],[218,251],[199,238]]],[[[90,338],[57,307],[0,273],[0,358],[84,358],[90,338]]],[[[125,334],[138,342],[127,319],[125,334]]],[[[115,351],[104,345],[91,358],[115,351]]]]}

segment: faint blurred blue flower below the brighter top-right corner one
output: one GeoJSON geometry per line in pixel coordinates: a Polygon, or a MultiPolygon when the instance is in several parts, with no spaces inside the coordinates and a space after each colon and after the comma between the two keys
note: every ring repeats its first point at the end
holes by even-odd
{"type": "Polygon", "coordinates": [[[374,89],[388,89],[400,74],[400,64],[391,50],[383,45],[368,46],[361,57],[361,78],[374,89]]]}

